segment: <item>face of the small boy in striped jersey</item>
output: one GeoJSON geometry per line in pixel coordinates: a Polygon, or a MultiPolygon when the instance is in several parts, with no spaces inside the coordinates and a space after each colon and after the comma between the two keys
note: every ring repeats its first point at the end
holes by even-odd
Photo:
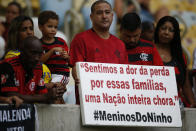
{"type": "Polygon", "coordinates": [[[40,25],[39,27],[43,37],[54,38],[57,32],[58,20],[49,19],[48,22],[46,22],[44,25],[40,25]]]}

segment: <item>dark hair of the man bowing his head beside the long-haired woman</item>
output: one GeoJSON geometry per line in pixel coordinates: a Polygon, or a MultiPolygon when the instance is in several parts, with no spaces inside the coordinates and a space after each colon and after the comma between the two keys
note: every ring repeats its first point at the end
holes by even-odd
{"type": "Polygon", "coordinates": [[[123,16],[121,21],[121,29],[135,31],[138,28],[141,28],[141,20],[139,15],[136,13],[127,13],[123,16]]]}

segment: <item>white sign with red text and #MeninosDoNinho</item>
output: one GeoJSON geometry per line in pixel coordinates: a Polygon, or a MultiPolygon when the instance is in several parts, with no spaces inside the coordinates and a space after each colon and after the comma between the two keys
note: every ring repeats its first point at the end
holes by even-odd
{"type": "Polygon", "coordinates": [[[173,67],[79,62],[83,125],[181,127],[173,67]]]}

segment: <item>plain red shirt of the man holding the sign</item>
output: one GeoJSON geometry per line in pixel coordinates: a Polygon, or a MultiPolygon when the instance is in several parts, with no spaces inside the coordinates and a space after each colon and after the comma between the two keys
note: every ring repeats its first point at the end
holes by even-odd
{"type": "Polygon", "coordinates": [[[99,62],[127,64],[124,43],[110,35],[108,39],[100,38],[92,29],[75,36],[71,42],[70,64],[76,62],[99,62]]]}

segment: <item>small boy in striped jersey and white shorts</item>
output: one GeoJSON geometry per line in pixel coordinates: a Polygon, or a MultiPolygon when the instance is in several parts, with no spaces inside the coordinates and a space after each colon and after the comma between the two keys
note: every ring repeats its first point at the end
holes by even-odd
{"type": "Polygon", "coordinates": [[[38,17],[39,29],[42,32],[41,43],[44,51],[41,61],[51,71],[51,82],[67,84],[70,73],[68,46],[63,39],[55,37],[58,21],[58,15],[53,11],[43,11],[38,17]]]}

